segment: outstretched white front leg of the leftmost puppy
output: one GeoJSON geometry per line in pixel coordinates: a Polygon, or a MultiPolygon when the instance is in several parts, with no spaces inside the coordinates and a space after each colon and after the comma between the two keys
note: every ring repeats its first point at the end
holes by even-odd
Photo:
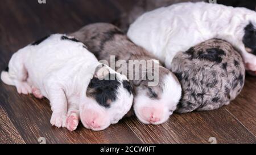
{"type": "Polygon", "coordinates": [[[67,98],[61,87],[56,87],[49,91],[49,101],[51,102],[52,117],[51,124],[56,127],[65,127],[67,119],[67,98]]]}

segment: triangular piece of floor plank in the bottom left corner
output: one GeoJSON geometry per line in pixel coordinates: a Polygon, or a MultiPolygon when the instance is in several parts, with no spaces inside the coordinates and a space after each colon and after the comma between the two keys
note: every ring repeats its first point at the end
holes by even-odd
{"type": "Polygon", "coordinates": [[[0,106],[0,144],[24,144],[22,136],[16,130],[5,110],[0,106]]]}

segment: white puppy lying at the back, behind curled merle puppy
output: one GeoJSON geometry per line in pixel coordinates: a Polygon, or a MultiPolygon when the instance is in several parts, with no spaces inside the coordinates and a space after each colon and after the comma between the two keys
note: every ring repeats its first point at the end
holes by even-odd
{"type": "Polygon", "coordinates": [[[143,14],[130,26],[127,35],[164,61],[167,68],[171,68],[177,52],[210,38],[220,38],[240,51],[246,70],[256,71],[256,12],[247,8],[179,3],[143,14]]]}

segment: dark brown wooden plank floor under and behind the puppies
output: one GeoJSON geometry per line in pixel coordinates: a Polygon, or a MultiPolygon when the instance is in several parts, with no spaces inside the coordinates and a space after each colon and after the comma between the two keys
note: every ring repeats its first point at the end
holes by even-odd
{"type": "MultiPolygon", "coordinates": [[[[135,1],[135,0],[134,0],[135,1]]],[[[134,1],[2,0],[0,5],[0,69],[11,55],[49,33],[68,33],[85,24],[117,18],[134,1]]],[[[52,127],[47,100],[19,95],[0,82],[0,143],[256,143],[256,78],[247,76],[245,88],[230,105],[218,110],[174,114],[167,123],[145,125],[136,118],[121,120],[104,131],[75,132],[52,127]]]]}

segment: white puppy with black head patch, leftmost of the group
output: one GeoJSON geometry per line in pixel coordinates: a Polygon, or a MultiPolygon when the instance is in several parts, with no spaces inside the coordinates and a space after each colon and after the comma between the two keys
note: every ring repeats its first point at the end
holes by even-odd
{"type": "Polygon", "coordinates": [[[131,85],[124,75],[98,62],[84,44],[55,34],[13,54],[1,74],[18,93],[48,98],[51,124],[76,130],[81,119],[86,128],[104,130],[117,123],[133,103],[131,85]],[[115,79],[109,80],[109,76],[115,79]]]}

